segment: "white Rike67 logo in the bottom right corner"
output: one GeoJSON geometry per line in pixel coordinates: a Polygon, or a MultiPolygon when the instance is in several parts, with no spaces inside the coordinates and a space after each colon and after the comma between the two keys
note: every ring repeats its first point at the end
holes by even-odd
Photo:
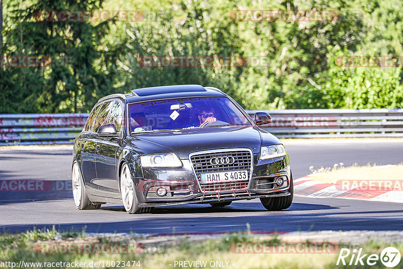
{"type": "Polygon", "coordinates": [[[352,251],[342,248],[336,265],[375,265],[379,261],[386,267],[394,267],[400,262],[400,252],[395,247],[386,247],[380,255],[363,253],[362,248],[352,251]]]}

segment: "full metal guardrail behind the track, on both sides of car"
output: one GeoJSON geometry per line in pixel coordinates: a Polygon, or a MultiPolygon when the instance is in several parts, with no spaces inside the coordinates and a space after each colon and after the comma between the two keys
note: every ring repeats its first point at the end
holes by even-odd
{"type": "MultiPolygon", "coordinates": [[[[248,110],[253,114],[262,110],[248,110]]],[[[403,137],[403,109],[266,110],[279,138],[403,137]]],[[[88,113],[0,114],[0,146],[72,144],[88,113]]]]}

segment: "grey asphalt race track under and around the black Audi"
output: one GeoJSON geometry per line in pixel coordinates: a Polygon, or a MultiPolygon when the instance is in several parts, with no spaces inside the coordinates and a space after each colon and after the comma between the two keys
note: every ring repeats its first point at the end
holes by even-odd
{"type": "MultiPolygon", "coordinates": [[[[309,166],[345,166],[358,163],[398,164],[403,161],[403,140],[290,141],[286,147],[295,178],[309,174],[309,166]]],[[[0,180],[69,182],[72,151],[68,147],[0,150],[0,180]]],[[[48,192],[28,199],[27,192],[0,191],[0,232],[16,232],[53,225],[60,230],[85,229],[105,233],[223,233],[318,230],[403,230],[403,206],[340,198],[296,195],[286,211],[267,212],[257,199],[237,201],[216,209],[209,205],[156,208],[152,214],[129,215],[122,206],[103,205],[97,211],[78,211],[69,197],[48,192]],[[44,198],[43,198],[44,197],[44,198]],[[26,198],[26,199],[24,199],[26,198]]],[[[56,193],[56,192],[55,192],[56,193]]]]}

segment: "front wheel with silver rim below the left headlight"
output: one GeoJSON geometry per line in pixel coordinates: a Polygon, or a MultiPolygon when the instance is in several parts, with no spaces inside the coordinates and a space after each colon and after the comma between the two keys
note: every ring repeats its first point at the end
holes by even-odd
{"type": "Polygon", "coordinates": [[[120,170],[119,185],[123,206],[128,214],[151,213],[153,211],[153,207],[139,207],[139,200],[136,196],[135,183],[131,178],[131,173],[126,163],[123,164],[122,169],[120,170]]]}

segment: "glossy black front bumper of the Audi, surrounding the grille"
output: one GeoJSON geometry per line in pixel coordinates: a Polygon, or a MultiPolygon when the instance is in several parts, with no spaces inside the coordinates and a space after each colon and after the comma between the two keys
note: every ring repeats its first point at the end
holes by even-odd
{"type": "Polygon", "coordinates": [[[291,180],[291,168],[288,155],[269,160],[258,160],[253,154],[253,166],[248,186],[242,190],[204,191],[192,169],[189,160],[182,160],[180,168],[143,168],[143,177],[138,178],[137,197],[140,207],[165,205],[199,204],[261,197],[287,196],[291,180]],[[276,179],[285,180],[280,187],[276,179]],[[164,196],[158,196],[156,190],[164,187],[168,190],[164,196]]]}

